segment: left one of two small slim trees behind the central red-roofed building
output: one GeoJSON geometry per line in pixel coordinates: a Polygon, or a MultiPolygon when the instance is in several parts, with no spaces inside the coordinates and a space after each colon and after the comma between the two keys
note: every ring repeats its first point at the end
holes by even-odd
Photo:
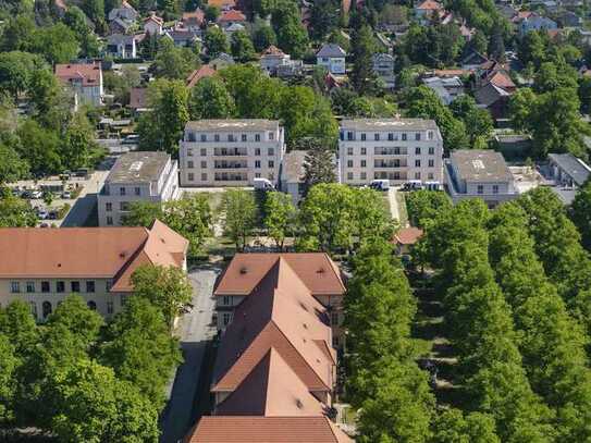
{"type": "Polygon", "coordinates": [[[253,193],[243,189],[227,189],[222,198],[224,233],[244,249],[257,221],[257,205],[253,193]]]}

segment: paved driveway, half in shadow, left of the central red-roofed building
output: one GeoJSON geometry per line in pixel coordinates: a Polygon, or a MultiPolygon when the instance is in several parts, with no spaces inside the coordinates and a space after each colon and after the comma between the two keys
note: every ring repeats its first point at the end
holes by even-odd
{"type": "Polygon", "coordinates": [[[188,272],[193,285],[193,309],[177,328],[185,361],[170,386],[170,399],[160,417],[161,443],[176,443],[195,424],[194,403],[207,342],[216,335],[211,324],[216,302],[213,284],[220,269],[202,266],[188,272]]]}

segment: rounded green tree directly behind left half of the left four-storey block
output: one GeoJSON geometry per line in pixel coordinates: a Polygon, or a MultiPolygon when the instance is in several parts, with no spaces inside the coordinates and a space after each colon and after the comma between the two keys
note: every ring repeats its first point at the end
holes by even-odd
{"type": "Polygon", "coordinates": [[[218,77],[205,77],[190,90],[188,102],[192,120],[229,119],[235,112],[234,98],[218,77]]]}

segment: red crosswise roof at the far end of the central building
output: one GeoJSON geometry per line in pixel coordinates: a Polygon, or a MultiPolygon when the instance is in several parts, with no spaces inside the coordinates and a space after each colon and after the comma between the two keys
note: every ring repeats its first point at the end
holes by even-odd
{"type": "Polygon", "coordinates": [[[283,258],[315,295],[340,295],[345,285],[336,264],[324,253],[236,254],[221,275],[216,295],[248,295],[283,258]]]}

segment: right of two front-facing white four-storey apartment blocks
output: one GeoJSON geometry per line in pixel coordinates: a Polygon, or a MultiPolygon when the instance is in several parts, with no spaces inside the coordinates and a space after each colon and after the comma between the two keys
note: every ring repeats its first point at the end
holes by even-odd
{"type": "Polygon", "coordinates": [[[341,182],[443,182],[443,139],[433,120],[355,119],[341,122],[341,182]]]}

